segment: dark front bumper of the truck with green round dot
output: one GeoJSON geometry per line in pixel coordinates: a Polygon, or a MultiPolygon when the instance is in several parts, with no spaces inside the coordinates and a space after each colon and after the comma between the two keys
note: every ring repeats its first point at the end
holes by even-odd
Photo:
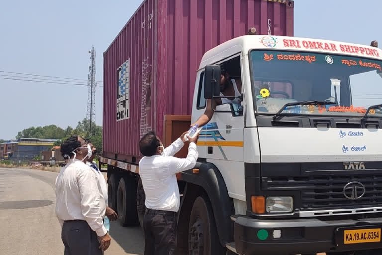
{"type": "Polygon", "coordinates": [[[382,229],[382,218],[324,221],[319,218],[258,220],[238,217],[234,224],[234,238],[236,252],[240,255],[292,255],[381,249],[381,231],[379,242],[344,244],[344,230],[364,229],[382,229]]]}

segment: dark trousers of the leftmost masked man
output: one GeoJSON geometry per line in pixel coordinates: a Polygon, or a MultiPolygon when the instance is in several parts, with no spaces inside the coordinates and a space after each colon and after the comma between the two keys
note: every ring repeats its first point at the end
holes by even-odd
{"type": "Polygon", "coordinates": [[[65,221],[61,239],[65,246],[64,255],[103,255],[97,234],[86,221],[65,221]]]}

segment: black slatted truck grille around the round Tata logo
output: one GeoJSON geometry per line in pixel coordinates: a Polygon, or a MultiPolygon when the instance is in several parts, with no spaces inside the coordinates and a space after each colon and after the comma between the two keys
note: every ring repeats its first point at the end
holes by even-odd
{"type": "Polygon", "coordinates": [[[300,210],[325,210],[335,208],[359,208],[382,205],[382,174],[359,174],[341,176],[269,177],[263,178],[263,190],[300,191],[300,210]],[[365,185],[366,192],[358,200],[344,196],[343,189],[349,182],[365,185]]]}

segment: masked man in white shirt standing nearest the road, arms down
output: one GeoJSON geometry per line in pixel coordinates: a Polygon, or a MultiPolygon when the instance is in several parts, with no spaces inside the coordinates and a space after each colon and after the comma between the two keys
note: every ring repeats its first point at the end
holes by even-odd
{"type": "Polygon", "coordinates": [[[71,136],[62,143],[61,153],[70,158],[56,179],[56,215],[64,255],[102,255],[110,237],[103,226],[105,201],[97,176],[84,163],[92,150],[83,138],[71,136]]]}

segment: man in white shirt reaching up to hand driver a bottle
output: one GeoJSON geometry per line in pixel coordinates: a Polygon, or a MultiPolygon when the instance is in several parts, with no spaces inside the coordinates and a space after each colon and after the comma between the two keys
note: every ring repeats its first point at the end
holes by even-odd
{"type": "Polygon", "coordinates": [[[180,196],[176,173],[192,169],[198,153],[198,135],[190,140],[187,158],[174,155],[184,146],[183,133],[169,147],[164,148],[155,132],[149,132],[139,141],[144,157],[139,162],[139,175],[146,195],[146,213],[143,219],[145,255],[173,255],[176,248],[176,221],[180,196]]]}

